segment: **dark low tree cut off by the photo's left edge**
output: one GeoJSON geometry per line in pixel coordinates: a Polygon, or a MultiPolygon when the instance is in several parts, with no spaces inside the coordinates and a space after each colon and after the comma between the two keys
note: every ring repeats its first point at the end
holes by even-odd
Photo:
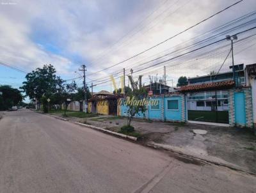
{"type": "Polygon", "coordinates": [[[18,89],[11,86],[0,86],[0,110],[5,111],[13,105],[18,105],[22,102],[23,97],[18,89]]]}

